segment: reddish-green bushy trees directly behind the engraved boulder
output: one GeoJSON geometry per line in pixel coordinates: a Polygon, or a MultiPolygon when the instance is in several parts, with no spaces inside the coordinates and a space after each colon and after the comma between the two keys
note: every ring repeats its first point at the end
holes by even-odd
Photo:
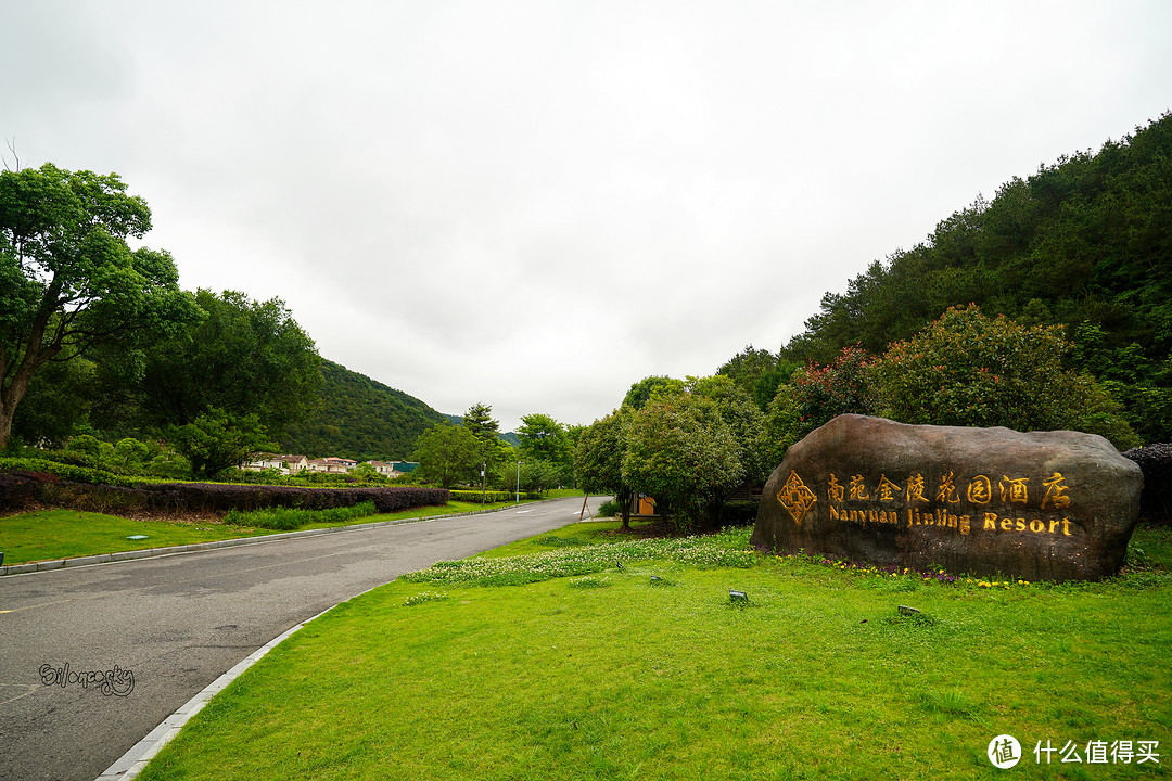
{"type": "Polygon", "coordinates": [[[1071,345],[1056,326],[986,317],[950,308],[881,356],[844,348],[829,365],[811,363],[782,385],[766,416],[779,460],[786,447],[837,415],[879,415],[911,424],[1069,429],[1125,450],[1138,438],[1118,402],[1086,372],[1064,369],[1071,345]]]}

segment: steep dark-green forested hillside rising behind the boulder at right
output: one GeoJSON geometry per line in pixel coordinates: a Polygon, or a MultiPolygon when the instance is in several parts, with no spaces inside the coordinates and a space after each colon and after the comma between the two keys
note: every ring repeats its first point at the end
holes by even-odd
{"type": "Polygon", "coordinates": [[[912,249],[827,293],[778,358],[881,352],[950,306],[1065,326],[1072,359],[1147,441],[1172,437],[1172,114],[977,199],[912,249]]]}

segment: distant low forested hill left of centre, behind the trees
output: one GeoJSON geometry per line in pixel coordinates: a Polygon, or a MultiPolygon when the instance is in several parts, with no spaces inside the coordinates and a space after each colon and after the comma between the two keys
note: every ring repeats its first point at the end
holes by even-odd
{"type": "Polygon", "coordinates": [[[321,407],[287,427],[281,451],[360,461],[409,459],[415,438],[444,419],[420,399],[322,359],[321,407]]]}

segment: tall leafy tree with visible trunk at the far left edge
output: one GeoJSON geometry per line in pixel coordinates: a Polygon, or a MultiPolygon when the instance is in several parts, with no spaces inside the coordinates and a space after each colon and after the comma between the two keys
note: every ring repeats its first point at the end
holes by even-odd
{"type": "Polygon", "coordinates": [[[198,317],[165,252],[131,249],[146,201],[115,173],[0,172],[0,448],[33,376],[102,344],[165,337],[198,317]]]}

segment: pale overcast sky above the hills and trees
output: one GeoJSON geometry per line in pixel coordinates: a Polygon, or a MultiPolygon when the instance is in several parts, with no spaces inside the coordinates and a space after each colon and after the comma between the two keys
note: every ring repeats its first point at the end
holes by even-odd
{"type": "Polygon", "coordinates": [[[1166,0],[4,6],[21,166],[117,172],[184,288],[280,297],[322,357],[503,430],[776,350],[1172,108],[1166,0]]]}

